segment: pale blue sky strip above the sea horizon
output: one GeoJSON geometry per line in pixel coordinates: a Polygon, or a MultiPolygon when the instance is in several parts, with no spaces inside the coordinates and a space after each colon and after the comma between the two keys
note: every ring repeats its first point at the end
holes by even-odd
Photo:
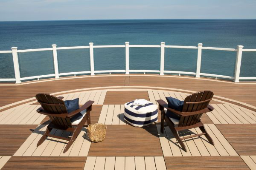
{"type": "Polygon", "coordinates": [[[256,0],[0,0],[0,21],[256,19],[256,0]]]}

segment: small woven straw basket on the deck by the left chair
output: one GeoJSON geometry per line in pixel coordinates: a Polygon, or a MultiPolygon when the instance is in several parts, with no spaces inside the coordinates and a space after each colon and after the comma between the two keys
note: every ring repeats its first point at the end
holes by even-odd
{"type": "Polygon", "coordinates": [[[91,142],[102,142],[105,139],[107,125],[96,123],[87,127],[88,137],[91,142]]]}

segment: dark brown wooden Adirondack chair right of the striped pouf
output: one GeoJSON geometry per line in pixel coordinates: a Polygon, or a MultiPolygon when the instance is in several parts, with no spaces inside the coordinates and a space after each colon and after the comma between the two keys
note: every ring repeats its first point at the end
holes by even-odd
{"type": "Polygon", "coordinates": [[[205,135],[209,143],[214,145],[212,138],[209,136],[209,134],[204,128],[204,124],[200,120],[203,113],[207,113],[214,109],[211,105],[209,105],[209,102],[212,100],[212,97],[212,91],[200,91],[198,93],[194,93],[190,96],[187,96],[184,100],[182,112],[176,111],[172,108],[168,108],[168,104],[166,104],[166,102],[163,100],[157,100],[157,102],[159,103],[159,110],[161,111],[161,133],[163,133],[165,120],[167,126],[169,126],[173,135],[175,136],[175,138],[177,139],[177,141],[179,142],[180,146],[184,151],[187,152],[186,147],[183,144],[182,140],[196,136],[205,135]],[[168,109],[177,116],[180,116],[180,120],[170,119],[168,116],[166,116],[164,108],[168,109]],[[199,127],[202,133],[192,136],[186,136],[183,138],[180,138],[180,136],[178,135],[178,131],[180,130],[189,130],[195,127],[199,127]]]}

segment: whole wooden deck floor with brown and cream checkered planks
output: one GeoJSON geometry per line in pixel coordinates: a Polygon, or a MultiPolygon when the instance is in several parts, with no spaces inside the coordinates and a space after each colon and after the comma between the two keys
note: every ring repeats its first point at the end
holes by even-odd
{"type": "MultiPolygon", "coordinates": [[[[95,76],[0,85],[0,169],[76,170],[256,170],[256,83],[172,76],[95,76]],[[214,111],[202,122],[215,145],[204,136],[185,139],[188,152],[180,149],[168,127],[160,133],[158,122],[132,127],[125,122],[125,102],[144,98],[156,103],[172,96],[183,100],[192,91],[212,90],[214,111]],[[79,98],[82,105],[94,100],[91,122],[107,127],[103,142],[91,143],[84,128],[70,149],[67,141],[48,138],[36,144],[49,117],[38,114],[36,93],[79,98]],[[13,104],[14,102],[17,102],[13,104]],[[251,105],[251,106],[250,106],[251,105]]],[[[70,136],[53,130],[60,136],[70,136]]],[[[199,128],[180,131],[180,136],[201,133],[199,128]]]]}

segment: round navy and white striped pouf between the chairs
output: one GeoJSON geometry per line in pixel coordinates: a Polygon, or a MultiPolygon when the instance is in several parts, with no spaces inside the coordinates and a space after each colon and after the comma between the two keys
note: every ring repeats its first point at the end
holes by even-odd
{"type": "Polygon", "coordinates": [[[125,103],[124,119],[135,127],[143,127],[157,122],[158,105],[149,102],[144,106],[132,105],[134,101],[125,103]]]}

